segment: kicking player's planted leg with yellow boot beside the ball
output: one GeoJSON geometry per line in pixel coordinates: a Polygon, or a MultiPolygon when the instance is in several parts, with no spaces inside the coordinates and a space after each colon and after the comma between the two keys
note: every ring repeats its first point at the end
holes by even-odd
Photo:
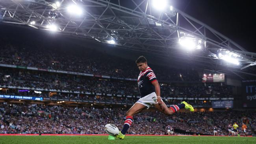
{"type": "Polygon", "coordinates": [[[124,139],[126,131],[129,129],[129,127],[132,125],[133,116],[136,113],[139,113],[143,109],[145,109],[146,106],[141,103],[135,103],[127,112],[126,112],[126,120],[124,121],[124,126],[122,128],[122,131],[119,131],[119,134],[116,136],[120,139],[124,139]]]}

